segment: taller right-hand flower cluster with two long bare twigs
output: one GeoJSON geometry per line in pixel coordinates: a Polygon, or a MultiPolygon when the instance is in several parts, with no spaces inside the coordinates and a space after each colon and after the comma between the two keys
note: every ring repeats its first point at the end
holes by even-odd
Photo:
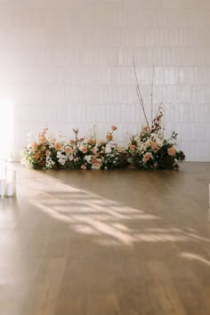
{"type": "Polygon", "coordinates": [[[138,100],[143,111],[146,124],[142,126],[141,133],[131,136],[130,143],[126,149],[129,154],[129,162],[137,168],[145,170],[154,169],[178,169],[179,162],[184,161],[185,155],[182,150],[175,149],[177,133],[173,132],[169,139],[164,137],[164,128],[162,119],[164,116],[164,109],[160,104],[158,113],[153,117],[153,76],[151,85],[151,124],[149,125],[149,118],[146,115],[144,108],[144,101],[141,95],[141,89],[138,82],[135,61],[133,59],[133,67],[136,79],[136,91],[138,100]]]}

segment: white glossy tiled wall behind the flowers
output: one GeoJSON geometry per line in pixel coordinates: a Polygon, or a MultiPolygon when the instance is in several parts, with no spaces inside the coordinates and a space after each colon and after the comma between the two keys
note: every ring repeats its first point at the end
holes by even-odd
{"type": "MultiPolygon", "coordinates": [[[[189,160],[210,160],[209,0],[0,0],[0,98],[13,101],[15,149],[44,125],[81,136],[143,122],[133,54],[149,111],[163,102],[166,131],[189,160]]],[[[2,105],[1,105],[2,110],[2,105]]]]}

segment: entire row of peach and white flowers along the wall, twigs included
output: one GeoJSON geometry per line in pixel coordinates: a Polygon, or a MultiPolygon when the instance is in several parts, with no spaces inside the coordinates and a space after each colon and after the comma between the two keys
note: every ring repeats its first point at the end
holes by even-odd
{"type": "Polygon", "coordinates": [[[181,150],[177,150],[177,133],[172,133],[169,139],[164,136],[162,119],[164,110],[158,107],[158,113],[153,117],[153,76],[151,85],[151,117],[146,115],[144,101],[138,82],[135,62],[133,59],[138,100],[146,121],[141,132],[130,137],[126,148],[118,147],[114,142],[113,133],[117,126],[112,125],[106,139],[97,141],[96,135],[78,138],[78,129],[73,129],[75,139],[67,141],[61,134],[53,138],[44,128],[37,139],[31,141],[23,151],[22,163],[35,169],[111,169],[126,166],[144,170],[178,169],[179,162],[185,159],[181,150]],[[150,121],[150,125],[149,125],[150,121]]]}

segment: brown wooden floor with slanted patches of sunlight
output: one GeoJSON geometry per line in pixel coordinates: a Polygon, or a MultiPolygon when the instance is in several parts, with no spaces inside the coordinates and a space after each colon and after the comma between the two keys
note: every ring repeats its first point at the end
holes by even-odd
{"type": "Polygon", "coordinates": [[[210,314],[210,164],[17,168],[0,200],[1,315],[210,314]]]}

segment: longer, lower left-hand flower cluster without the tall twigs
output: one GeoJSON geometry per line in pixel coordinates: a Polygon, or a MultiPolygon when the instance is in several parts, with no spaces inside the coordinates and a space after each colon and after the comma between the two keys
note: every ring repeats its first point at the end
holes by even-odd
{"type": "Polygon", "coordinates": [[[22,164],[34,169],[92,169],[121,168],[128,165],[128,153],[117,147],[113,141],[115,125],[107,133],[105,140],[96,140],[96,136],[78,138],[78,129],[73,129],[75,139],[67,141],[61,134],[52,137],[48,128],[44,128],[23,151],[22,164]]]}

